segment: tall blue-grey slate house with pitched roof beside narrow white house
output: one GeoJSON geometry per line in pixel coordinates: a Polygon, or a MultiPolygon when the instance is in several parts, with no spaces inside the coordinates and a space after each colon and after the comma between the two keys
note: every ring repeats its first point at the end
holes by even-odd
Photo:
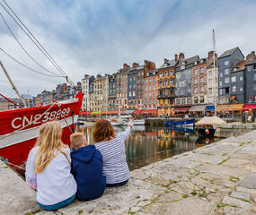
{"type": "Polygon", "coordinates": [[[244,56],[239,47],[225,51],[217,59],[218,65],[218,101],[219,104],[229,104],[231,99],[231,70],[244,56]]]}

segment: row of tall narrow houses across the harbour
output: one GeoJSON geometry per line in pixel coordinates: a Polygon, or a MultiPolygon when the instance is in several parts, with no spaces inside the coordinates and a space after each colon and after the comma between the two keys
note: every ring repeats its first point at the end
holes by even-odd
{"type": "Polygon", "coordinates": [[[239,47],[214,56],[175,54],[156,68],[153,62],[123,64],[117,73],[85,75],[83,109],[87,111],[157,109],[202,111],[218,104],[256,103],[255,52],[244,58],[239,47]],[[214,71],[214,64],[216,70],[214,71]],[[254,83],[255,82],[255,83],[254,83]]]}

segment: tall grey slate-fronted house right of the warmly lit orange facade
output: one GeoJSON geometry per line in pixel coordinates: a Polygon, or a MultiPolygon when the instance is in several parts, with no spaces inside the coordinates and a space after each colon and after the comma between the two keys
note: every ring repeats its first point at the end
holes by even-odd
{"type": "Polygon", "coordinates": [[[185,59],[183,53],[179,55],[175,66],[175,107],[189,107],[192,104],[192,66],[199,61],[199,56],[185,59]]]}

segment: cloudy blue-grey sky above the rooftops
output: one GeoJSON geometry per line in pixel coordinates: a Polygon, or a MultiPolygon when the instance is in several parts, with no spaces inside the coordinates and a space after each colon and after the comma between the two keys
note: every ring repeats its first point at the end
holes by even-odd
{"type": "MultiPolygon", "coordinates": [[[[84,73],[115,73],[123,63],[156,66],[175,53],[207,56],[216,30],[216,49],[256,49],[255,0],[5,0],[74,82],[84,73]]],[[[3,0],[0,0],[4,6],[3,0]]],[[[58,73],[0,5],[0,12],[22,46],[49,71],[58,73]]],[[[31,68],[47,73],[13,39],[0,17],[0,47],[31,68]]],[[[52,90],[63,78],[33,73],[0,51],[16,87],[32,95],[52,90]]],[[[0,69],[0,92],[12,88],[0,69]]]]}

